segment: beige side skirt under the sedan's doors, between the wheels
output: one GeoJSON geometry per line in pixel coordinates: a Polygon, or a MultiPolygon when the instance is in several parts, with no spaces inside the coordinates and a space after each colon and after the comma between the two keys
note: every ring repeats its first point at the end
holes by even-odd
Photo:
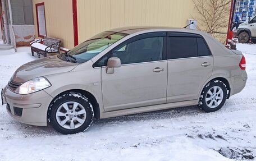
{"type": "Polygon", "coordinates": [[[150,106],[145,106],[145,107],[130,108],[130,109],[122,109],[119,111],[100,113],[100,118],[109,118],[109,117],[116,117],[116,116],[124,116],[124,115],[128,115],[128,114],[159,111],[159,110],[163,110],[163,109],[185,107],[185,106],[196,105],[196,104],[198,104],[197,99],[196,100],[188,100],[188,101],[184,101],[184,102],[175,102],[175,103],[167,103],[167,104],[159,104],[159,105],[150,105],[150,106]]]}

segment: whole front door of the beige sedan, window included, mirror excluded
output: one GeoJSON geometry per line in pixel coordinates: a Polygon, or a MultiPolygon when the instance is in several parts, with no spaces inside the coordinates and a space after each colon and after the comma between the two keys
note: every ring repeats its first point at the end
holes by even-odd
{"type": "Polygon", "coordinates": [[[161,32],[135,36],[101,58],[102,65],[109,57],[121,59],[121,67],[115,68],[113,74],[107,74],[106,67],[102,67],[106,112],[166,103],[165,35],[161,32]]]}

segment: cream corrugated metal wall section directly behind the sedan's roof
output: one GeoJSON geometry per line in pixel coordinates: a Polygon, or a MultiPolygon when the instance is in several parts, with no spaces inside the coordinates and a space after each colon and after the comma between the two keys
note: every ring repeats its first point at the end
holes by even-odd
{"type": "Polygon", "coordinates": [[[183,27],[196,14],[192,0],[77,0],[79,43],[122,26],[183,27]]]}

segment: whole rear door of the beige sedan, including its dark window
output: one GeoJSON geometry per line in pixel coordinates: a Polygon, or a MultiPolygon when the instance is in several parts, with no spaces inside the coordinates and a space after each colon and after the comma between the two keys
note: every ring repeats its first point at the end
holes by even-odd
{"type": "Polygon", "coordinates": [[[212,75],[213,56],[202,36],[167,34],[167,103],[198,99],[212,75]]]}

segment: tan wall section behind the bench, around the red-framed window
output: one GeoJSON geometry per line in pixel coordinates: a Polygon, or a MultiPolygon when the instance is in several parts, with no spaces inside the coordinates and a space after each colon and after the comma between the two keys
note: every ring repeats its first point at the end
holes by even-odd
{"type": "Polygon", "coordinates": [[[61,40],[61,47],[74,47],[71,0],[33,0],[35,35],[38,38],[35,4],[44,2],[47,36],[61,40]]]}

